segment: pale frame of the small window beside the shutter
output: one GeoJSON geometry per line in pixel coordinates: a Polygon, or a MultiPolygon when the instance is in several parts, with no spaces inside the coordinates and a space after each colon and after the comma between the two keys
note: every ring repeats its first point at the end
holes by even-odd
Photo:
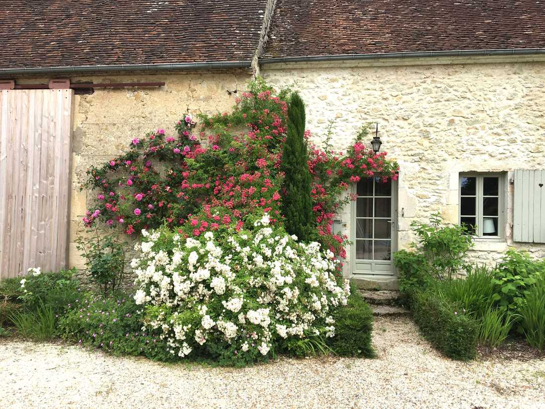
{"type": "Polygon", "coordinates": [[[475,196],[476,196],[476,224],[477,231],[473,234],[473,238],[481,241],[504,241],[505,240],[505,220],[506,220],[506,198],[505,194],[507,188],[506,173],[501,172],[461,172],[458,178],[458,225],[461,224],[462,218],[462,178],[474,177],[476,178],[475,184],[475,196]],[[498,178],[498,235],[497,236],[485,236],[482,232],[483,219],[483,179],[486,177],[498,178]]]}

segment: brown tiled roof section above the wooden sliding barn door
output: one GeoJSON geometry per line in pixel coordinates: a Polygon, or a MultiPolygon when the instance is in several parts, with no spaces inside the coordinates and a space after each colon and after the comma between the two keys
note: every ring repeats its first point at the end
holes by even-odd
{"type": "Polygon", "coordinates": [[[0,0],[0,69],[250,61],[265,0],[0,0]]]}

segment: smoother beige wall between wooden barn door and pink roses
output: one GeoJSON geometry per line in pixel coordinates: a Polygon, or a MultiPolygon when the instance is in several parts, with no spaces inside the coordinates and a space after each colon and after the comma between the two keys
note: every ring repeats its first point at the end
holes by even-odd
{"type": "MultiPolygon", "coordinates": [[[[82,216],[94,200],[92,193],[80,191],[81,183],[86,180],[87,168],[122,154],[135,136],[158,128],[164,128],[167,135],[175,134],[174,124],[187,111],[196,115],[231,109],[237,97],[233,91],[244,90],[250,79],[251,73],[246,70],[71,77],[72,82],[165,82],[164,87],[95,88],[93,94],[75,95],[69,245],[71,267],[84,267],[74,239],[78,228],[82,227],[82,216]]],[[[17,80],[17,83],[39,82],[47,83],[47,79],[17,80]]]]}

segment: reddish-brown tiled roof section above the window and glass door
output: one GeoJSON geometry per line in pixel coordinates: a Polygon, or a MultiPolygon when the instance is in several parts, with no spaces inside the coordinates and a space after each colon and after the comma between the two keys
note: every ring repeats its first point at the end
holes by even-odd
{"type": "Polygon", "coordinates": [[[264,58],[545,47],[545,0],[278,0],[264,58]]]}

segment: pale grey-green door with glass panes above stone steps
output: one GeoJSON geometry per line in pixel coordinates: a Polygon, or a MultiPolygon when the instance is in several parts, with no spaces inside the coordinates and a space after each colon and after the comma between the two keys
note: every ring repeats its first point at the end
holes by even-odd
{"type": "Polygon", "coordinates": [[[396,197],[392,181],[364,178],[356,185],[353,209],[354,274],[393,275],[392,244],[396,243],[396,197]]]}

